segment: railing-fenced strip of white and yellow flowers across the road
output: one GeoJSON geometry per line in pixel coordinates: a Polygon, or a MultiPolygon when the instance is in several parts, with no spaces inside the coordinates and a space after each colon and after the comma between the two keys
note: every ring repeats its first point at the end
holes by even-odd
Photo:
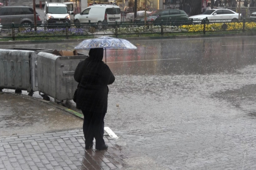
{"type": "Polygon", "coordinates": [[[210,33],[210,32],[226,32],[232,31],[245,32],[256,31],[256,23],[246,21],[245,19],[238,21],[228,20],[186,20],[186,21],[161,21],[154,22],[123,22],[123,23],[62,23],[54,25],[40,25],[34,29],[34,25],[3,25],[0,38],[9,38],[17,40],[19,38],[35,38],[35,37],[63,37],[63,38],[79,38],[99,36],[127,36],[136,35],[172,35],[186,33],[210,33]]]}

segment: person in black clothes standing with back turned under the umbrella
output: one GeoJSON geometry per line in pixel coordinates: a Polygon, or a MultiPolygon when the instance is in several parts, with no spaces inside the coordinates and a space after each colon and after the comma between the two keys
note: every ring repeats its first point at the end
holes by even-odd
{"type": "Polygon", "coordinates": [[[103,48],[91,48],[89,57],[81,61],[74,78],[79,82],[76,94],[76,108],[83,113],[83,134],[85,149],[90,149],[95,138],[95,149],[107,149],[104,142],[104,117],[107,112],[108,84],[115,77],[103,59],[103,48]]]}

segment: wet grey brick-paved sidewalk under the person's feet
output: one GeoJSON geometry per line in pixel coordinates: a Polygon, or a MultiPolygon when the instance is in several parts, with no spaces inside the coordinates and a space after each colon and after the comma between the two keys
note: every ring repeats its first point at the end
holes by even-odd
{"type": "MultiPolygon", "coordinates": [[[[82,129],[0,137],[0,169],[121,169],[124,157],[104,134],[107,150],[85,150],[82,129]]],[[[95,141],[94,141],[95,142],[95,141]]]]}

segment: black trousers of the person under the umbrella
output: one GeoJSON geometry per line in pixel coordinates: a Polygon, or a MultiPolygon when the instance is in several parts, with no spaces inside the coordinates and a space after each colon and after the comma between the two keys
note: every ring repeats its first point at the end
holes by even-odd
{"type": "Polygon", "coordinates": [[[83,112],[83,134],[85,135],[85,145],[92,144],[95,138],[95,147],[101,147],[105,144],[104,135],[104,117],[106,113],[97,113],[94,111],[82,110],[83,112]]]}

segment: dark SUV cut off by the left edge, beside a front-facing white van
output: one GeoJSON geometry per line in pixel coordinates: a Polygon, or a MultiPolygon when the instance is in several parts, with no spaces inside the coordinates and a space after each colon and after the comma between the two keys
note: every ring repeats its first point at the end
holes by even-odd
{"type": "MultiPolygon", "coordinates": [[[[0,19],[3,27],[11,25],[32,25],[34,24],[34,10],[28,6],[3,6],[0,8],[0,19]]],[[[40,15],[36,13],[37,25],[42,24],[40,15]]]]}

